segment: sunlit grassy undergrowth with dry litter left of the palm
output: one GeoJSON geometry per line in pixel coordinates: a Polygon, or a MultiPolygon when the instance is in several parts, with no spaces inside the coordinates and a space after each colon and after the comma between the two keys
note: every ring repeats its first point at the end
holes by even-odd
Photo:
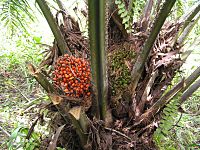
{"type": "Polygon", "coordinates": [[[29,140],[25,137],[38,114],[49,99],[29,75],[26,64],[38,65],[42,59],[41,37],[21,35],[9,43],[0,44],[0,149],[32,150],[39,146],[40,138],[48,134],[47,125],[39,122],[29,140]],[[7,132],[7,134],[5,133],[7,132]]]}

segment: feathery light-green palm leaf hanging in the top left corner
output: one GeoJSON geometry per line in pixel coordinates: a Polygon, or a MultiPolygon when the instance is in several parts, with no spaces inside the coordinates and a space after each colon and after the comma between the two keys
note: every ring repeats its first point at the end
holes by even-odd
{"type": "Polygon", "coordinates": [[[28,31],[28,21],[35,16],[26,0],[3,0],[0,2],[0,20],[9,33],[17,30],[28,31]]]}

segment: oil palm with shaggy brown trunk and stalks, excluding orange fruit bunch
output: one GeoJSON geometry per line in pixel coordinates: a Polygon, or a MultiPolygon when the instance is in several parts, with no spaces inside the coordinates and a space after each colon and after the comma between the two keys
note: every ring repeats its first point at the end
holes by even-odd
{"type": "Polygon", "coordinates": [[[55,41],[38,69],[28,67],[64,118],[65,131],[71,124],[74,127],[70,135],[62,136],[80,141],[75,149],[153,148],[152,135],[163,109],[174,97],[180,99],[179,107],[199,87],[199,81],[192,85],[199,77],[197,68],[166,90],[188,57],[184,41],[199,19],[200,3],[183,17],[168,21],[176,0],[88,0],[87,39],[62,1],[57,0],[57,16],[62,14],[64,22],[60,25],[44,0],[36,2],[55,41]],[[64,91],[56,89],[42,69],[54,66],[66,53],[91,63],[92,96],[81,102],[63,96],[64,91]]]}

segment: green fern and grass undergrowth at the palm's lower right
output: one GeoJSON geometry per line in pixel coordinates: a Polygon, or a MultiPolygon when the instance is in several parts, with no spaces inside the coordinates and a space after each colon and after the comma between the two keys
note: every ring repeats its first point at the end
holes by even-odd
{"type": "MultiPolygon", "coordinates": [[[[181,78],[177,74],[173,83],[181,78]]],[[[178,111],[180,94],[164,108],[161,121],[154,132],[153,139],[160,150],[200,149],[200,89],[181,105],[186,113],[178,111]]]]}

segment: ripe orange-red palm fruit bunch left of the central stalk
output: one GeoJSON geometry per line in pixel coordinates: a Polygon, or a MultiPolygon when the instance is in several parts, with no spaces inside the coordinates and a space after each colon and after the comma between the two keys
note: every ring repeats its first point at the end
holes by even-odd
{"type": "Polygon", "coordinates": [[[90,96],[91,77],[87,60],[65,54],[57,59],[52,75],[54,85],[61,88],[66,96],[90,96]]]}

